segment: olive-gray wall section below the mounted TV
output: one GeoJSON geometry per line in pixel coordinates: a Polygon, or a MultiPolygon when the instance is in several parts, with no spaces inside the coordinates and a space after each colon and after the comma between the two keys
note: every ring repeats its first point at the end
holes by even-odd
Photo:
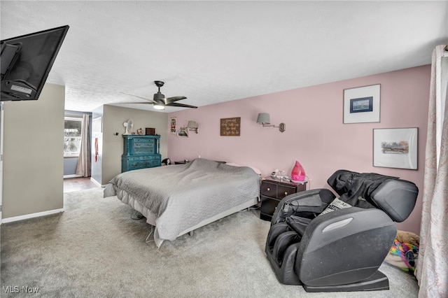
{"type": "Polygon", "coordinates": [[[65,87],[37,101],[4,102],[3,219],[64,206],[65,87]]]}

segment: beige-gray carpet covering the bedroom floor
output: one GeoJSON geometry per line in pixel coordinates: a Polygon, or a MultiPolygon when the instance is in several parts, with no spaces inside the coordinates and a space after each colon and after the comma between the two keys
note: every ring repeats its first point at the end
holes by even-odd
{"type": "MultiPolygon", "coordinates": [[[[391,290],[316,294],[282,285],[264,248],[269,222],[241,211],[160,249],[150,226],[102,188],[64,194],[65,212],[1,225],[1,297],[416,297],[411,274],[381,266],[391,290]],[[38,288],[38,289],[37,289],[38,288]],[[17,293],[16,293],[17,292],[17,293]]],[[[366,253],[368,257],[368,253],[366,253]]]]}

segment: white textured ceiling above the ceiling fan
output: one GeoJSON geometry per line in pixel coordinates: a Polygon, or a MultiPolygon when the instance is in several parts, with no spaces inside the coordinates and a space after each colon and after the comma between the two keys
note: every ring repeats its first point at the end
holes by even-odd
{"type": "MultiPolygon", "coordinates": [[[[1,39],[69,24],[48,83],[67,110],[205,106],[430,64],[448,1],[1,1],[1,39]],[[141,100],[143,101],[143,100],[141,100]],[[152,105],[125,105],[146,107],[152,105]]],[[[181,108],[167,108],[165,112],[181,108]]]]}

